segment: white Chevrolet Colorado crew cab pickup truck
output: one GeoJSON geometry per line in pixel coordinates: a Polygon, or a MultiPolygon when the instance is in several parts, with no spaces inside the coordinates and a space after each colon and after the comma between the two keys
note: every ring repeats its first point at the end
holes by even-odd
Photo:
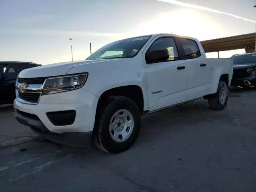
{"type": "Polygon", "coordinates": [[[14,116],[48,140],[119,153],[138,138],[141,114],[202,97],[223,110],[232,71],[232,59],[206,59],[194,38],[128,38],[83,61],[20,72],[14,116]]]}

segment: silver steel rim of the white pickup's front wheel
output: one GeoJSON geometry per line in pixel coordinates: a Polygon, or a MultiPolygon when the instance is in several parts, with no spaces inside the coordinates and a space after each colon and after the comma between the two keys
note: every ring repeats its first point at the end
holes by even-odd
{"type": "Polygon", "coordinates": [[[109,133],[116,142],[124,142],[132,134],[134,118],[126,109],[120,109],[110,119],[109,133]]]}

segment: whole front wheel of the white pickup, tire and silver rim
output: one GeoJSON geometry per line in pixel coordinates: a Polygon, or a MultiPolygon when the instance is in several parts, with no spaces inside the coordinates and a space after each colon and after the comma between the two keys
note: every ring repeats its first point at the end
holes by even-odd
{"type": "Polygon", "coordinates": [[[109,153],[128,150],[138,138],[140,124],[140,110],[130,98],[112,97],[95,127],[94,144],[109,153]]]}

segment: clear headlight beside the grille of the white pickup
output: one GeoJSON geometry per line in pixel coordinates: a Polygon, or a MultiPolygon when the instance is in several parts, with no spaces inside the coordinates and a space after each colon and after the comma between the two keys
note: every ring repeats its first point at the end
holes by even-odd
{"type": "Polygon", "coordinates": [[[88,74],[86,73],[47,78],[42,95],[81,88],[85,84],[87,77],[88,74]]]}

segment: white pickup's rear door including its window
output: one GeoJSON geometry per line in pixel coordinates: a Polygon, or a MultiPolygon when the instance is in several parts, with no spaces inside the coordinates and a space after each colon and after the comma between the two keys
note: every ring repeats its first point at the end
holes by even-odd
{"type": "Polygon", "coordinates": [[[203,96],[207,84],[207,66],[204,53],[200,52],[196,41],[180,38],[184,62],[186,62],[186,98],[203,96]]]}

